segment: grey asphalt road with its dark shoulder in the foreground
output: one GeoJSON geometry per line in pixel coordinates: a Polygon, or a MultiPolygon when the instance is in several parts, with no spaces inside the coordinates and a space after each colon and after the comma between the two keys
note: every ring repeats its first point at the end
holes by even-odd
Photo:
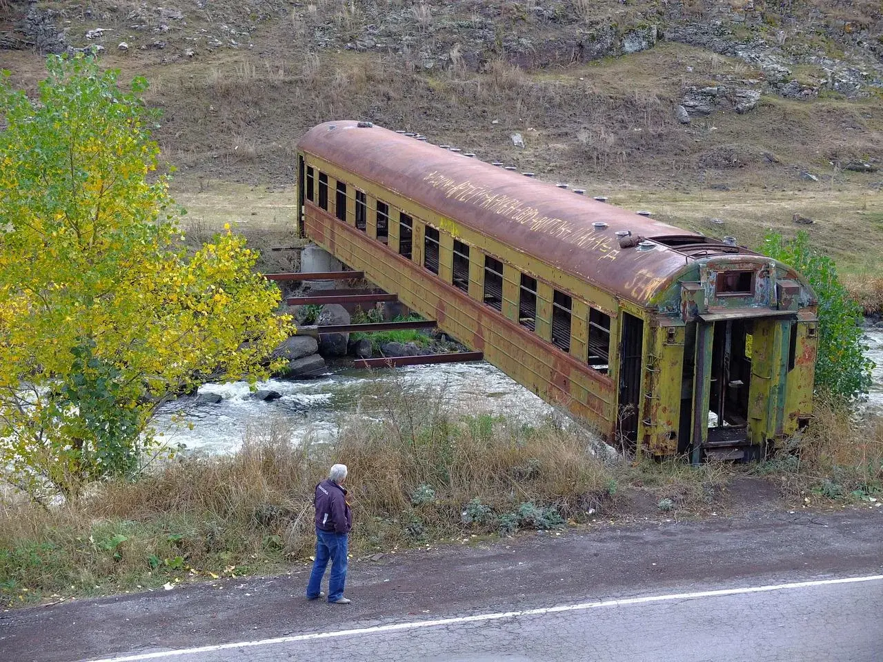
{"type": "Polygon", "coordinates": [[[32,607],[0,614],[0,660],[876,662],[883,579],[824,582],[883,575],[881,510],[776,512],[390,554],[351,564],[350,606],[306,602],[307,569],[298,568],[32,607]],[[814,583],[782,585],[806,581],[814,583]]]}

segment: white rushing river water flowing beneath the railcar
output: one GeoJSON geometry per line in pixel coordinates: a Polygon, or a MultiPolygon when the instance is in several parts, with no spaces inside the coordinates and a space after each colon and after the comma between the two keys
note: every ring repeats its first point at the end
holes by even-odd
{"type": "MultiPolygon", "coordinates": [[[[867,410],[883,412],[883,330],[866,336],[868,357],[877,364],[867,410]]],[[[325,441],[334,437],[340,421],[359,411],[366,387],[397,386],[429,388],[437,392],[450,409],[468,413],[505,414],[507,417],[536,419],[553,412],[546,402],[493,365],[484,362],[446,365],[416,365],[397,370],[342,369],[316,380],[268,380],[259,388],[278,391],[274,402],[259,402],[250,397],[245,382],[207,384],[200,394],[223,397],[217,404],[199,404],[195,398],[183,398],[166,405],[155,418],[157,430],[172,443],[202,452],[230,453],[242,444],[246,433],[268,425],[282,424],[295,443],[325,441]],[[185,422],[174,422],[176,414],[185,422]]]]}

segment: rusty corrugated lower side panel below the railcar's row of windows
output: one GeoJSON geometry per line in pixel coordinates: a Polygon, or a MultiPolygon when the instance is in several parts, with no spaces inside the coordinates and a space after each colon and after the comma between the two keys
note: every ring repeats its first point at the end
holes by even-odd
{"type": "Polygon", "coordinates": [[[313,240],[384,290],[395,291],[407,306],[436,320],[438,327],[500,367],[548,402],[556,402],[612,435],[615,395],[612,380],[466,292],[426,274],[424,267],[392,252],[379,251],[365,233],[337,221],[332,214],[306,204],[306,230],[313,240]]]}

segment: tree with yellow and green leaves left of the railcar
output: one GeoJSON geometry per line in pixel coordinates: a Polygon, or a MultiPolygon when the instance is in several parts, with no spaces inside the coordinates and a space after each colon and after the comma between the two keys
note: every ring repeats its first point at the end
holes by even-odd
{"type": "Polygon", "coordinates": [[[266,376],[291,331],[243,237],[183,248],[147,82],[48,69],[33,102],[0,80],[0,470],[38,500],[137,473],[158,403],[266,376]]]}

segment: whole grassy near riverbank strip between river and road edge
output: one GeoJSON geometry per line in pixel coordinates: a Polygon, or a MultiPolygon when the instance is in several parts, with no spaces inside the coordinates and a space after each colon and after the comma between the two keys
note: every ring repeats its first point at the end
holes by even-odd
{"type": "Polygon", "coordinates": [[[617,460],[555,416],[528,424],[441,402],[431,388],[376,385],[359,395],[367,415],[351,414],[324,443],[292,444],[276,420],[231,454],[185,454],[138,482],[98,485],[77,504],[10,504],[0,515],[4,605],[307,564],[313,485],[338,461],[351,469],[354,558],[521,530],[883,500],[883,420],[859,425],[824,402],[799,459],[696,468],[617,460]]]}

